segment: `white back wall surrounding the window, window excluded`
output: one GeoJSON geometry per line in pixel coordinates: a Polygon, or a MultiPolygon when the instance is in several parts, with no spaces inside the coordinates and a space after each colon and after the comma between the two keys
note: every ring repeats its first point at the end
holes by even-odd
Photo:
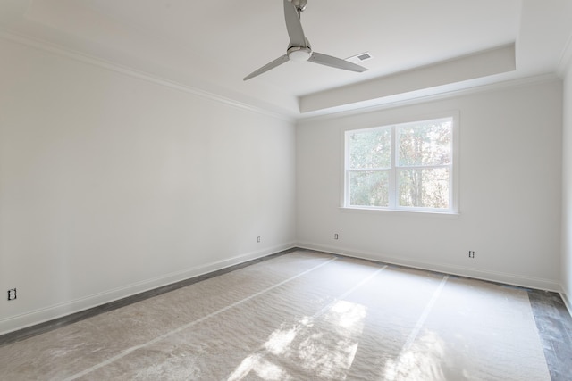
{"type": "Polygon", "coordinates": [[[561,137],[562,85],[556,79],[302,120],[297,127],[299,244],[559,290],[561,137]],[[460,115],[458,218],[339,209],[344,128],[445,111],[460,115]],[[468,259],[469,250],[475,259],[468,259]]]}

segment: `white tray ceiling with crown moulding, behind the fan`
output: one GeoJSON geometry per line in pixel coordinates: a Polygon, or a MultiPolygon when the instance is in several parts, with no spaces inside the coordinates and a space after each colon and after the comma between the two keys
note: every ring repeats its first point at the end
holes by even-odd
{"type": "Polygon", "coordinates": [[[572,0],[308,0],[315,51],[369,52],[356,73],[286,62],[282,0],[0,0],[0,36],[303,118],[559,73],[572,0]]]}

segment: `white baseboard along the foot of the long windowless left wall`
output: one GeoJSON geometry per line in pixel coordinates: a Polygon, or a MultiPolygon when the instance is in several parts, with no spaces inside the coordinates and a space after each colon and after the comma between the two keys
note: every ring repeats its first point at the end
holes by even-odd
{"type": "Polygon", "coordinates": [[[25,327],[35,326],[49,320],[62,318],[75,312],[85,311],[107,302],[114,302],[122,298],[144,293],[161,286],[171,285],[172,283],[176,283],[181,280],[186,280],[192,277],[199,277],[219,269],[226,269],[246,261],[256,260],[273,253],[280,253],[284,250],[291,249],[292,247],[295,247],[294,243],[281,244],[252,253],[243,253],[223,261],[206,263],[194,268],[172,272],[170,274],[165,274],[164,276],[147,279],[127,286],[115,288],[113,290],[108,290],[99,294],[92,294],[70,302],[63,302],[43,309],[38,309],[36,311],[29,311],[21,315],[12,316],[6,319],[0,319],[0,335],[5,335],[25,327]]]}

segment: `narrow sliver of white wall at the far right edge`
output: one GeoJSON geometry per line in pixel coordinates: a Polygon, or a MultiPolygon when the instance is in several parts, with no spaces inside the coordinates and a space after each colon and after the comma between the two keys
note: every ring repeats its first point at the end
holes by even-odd
{"type": "Polygon", "coordinates": [[[562,137],[562,288],[572,314],[572,62],[564,79],[564,132],[562,137]]]}

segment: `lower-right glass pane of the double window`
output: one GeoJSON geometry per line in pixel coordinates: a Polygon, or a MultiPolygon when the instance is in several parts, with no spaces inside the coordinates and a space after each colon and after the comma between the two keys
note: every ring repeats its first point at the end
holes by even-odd
{"type": "Polygon", "coordinates": [[[448,168],[398,170],[400,206],[449,209],[448,168]]]}

